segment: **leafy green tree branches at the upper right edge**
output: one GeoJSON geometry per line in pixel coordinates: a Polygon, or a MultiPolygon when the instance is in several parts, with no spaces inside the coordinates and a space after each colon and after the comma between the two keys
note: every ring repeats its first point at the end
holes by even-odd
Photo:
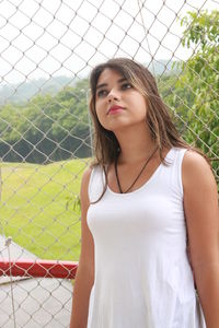
{"type": "MultiPolygon", "coordinates": [[[[218,171],[219,149],[219,12],[188,12],[182,20],[185,26],[182,43],[194,49],[191,58],[181,63],[170,105],[175,108],[187,129],[184,138],[201,149],[218,171]]],[[[219,172],[217,172],[219,175],[219,172]]]]}

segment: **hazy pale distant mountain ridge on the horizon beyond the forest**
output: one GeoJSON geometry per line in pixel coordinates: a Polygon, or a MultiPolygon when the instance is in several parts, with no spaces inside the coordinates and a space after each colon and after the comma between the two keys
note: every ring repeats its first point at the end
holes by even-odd
{"type": "MultiPolygon", "coordinates": [[[[146,63],[146,67],[154,75],[177,73],[176,66],[172,68],[173,61],[154,60],[151,63],[146,63]]],[[[84,77],[85,78],[85,77],[84,77]]],[[[51,94],[55,95],[64,86],[73,86],[80,79],[70,77],[53,77],[49,80],[41,78],[38,80],[31,80],[27,82],[16,84],[0,85],[0,105],[8,103],[24,103],[36,94],[51,94]]]]}

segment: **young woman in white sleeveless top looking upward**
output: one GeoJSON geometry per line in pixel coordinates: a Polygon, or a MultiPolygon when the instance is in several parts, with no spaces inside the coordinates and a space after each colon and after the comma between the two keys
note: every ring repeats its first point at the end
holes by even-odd
{"type": "Polygon", "coordinates": [[[219,216],[207,161],[155,81],[112,59],[91,73],[95,163],[81,185],[71,328],[218,328],[219,216]]]}

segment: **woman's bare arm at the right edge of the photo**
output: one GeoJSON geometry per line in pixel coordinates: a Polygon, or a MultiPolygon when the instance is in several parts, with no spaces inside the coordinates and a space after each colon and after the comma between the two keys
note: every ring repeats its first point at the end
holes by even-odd
{"type": "Polygon", "coordinates": [[[219,210],[217,185],[206,160],[183,160],[184,210],[192,267],[207,328],[219,327],[219,210]]]}

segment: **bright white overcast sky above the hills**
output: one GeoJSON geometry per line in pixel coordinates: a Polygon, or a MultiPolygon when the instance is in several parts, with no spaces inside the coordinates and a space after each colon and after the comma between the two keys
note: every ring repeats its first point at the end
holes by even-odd
{"type": "Polygon", "coordinates": [[[181,19],[219,0],[2,0],[0,84],[84,77],[112,57],[186,60],[181,19]]]}

